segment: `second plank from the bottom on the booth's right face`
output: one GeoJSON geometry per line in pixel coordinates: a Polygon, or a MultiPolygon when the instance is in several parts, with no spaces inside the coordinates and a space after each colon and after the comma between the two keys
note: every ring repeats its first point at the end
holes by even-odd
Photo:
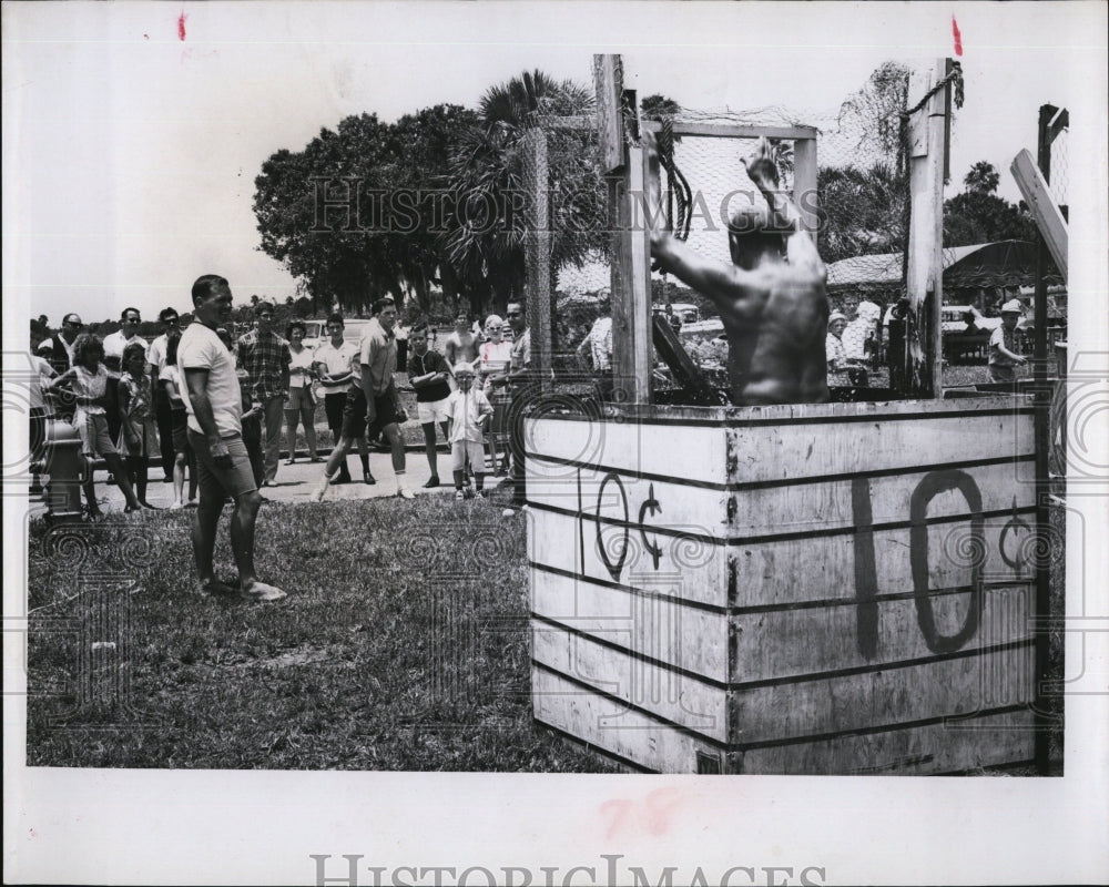
{"type": "Polygon", "coordinates": [[[1031,644],[910,667],[733,692],[741,743],[845,734],[1031,702],[1031,644]],[[1000,683],[999,683],[1000,679],[1000,683]]]}

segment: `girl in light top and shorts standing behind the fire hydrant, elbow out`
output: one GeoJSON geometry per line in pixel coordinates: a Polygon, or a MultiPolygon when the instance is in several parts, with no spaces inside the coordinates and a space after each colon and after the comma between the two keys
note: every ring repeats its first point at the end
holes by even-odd
{"type": "Polygon", "coordinates": [[[103,513],[96,503],[96,489],[92,477],[92,460],[104,458],[108,470],[116,477],[120,492],[126,500],[126,511],[138,511],[142,506],[135,499],[131,480],[123,468],[123,460],[108,434],[108,367],[104,366],[104,343],[100,336],[82,333],[73,343],[73,366],[53,379],[48,390],[65,387],[73,395],[73,429],[81,438],[84,498],[90,518],[103,513]]]}

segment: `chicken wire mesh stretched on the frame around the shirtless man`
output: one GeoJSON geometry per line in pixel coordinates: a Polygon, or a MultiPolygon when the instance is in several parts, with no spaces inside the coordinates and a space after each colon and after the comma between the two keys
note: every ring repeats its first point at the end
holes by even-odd
{"type": "MultiPolygon", "coordinates": [[[[905,130],[908,95],[906,67],[889,62],[833,110],[801,110],[779,105],[736,111],[673,105],[674,125],[741,124],[745,126],[812,126],[817,136],[817,248],[828,269],[828,302],[846,318],[841,343],[844,357],[830,371],[830,386],[886,387],[884,365],[888,309],[904,295],[908,244],[909,191],[905,130]]],[[[583,126],[582,147],[597,157],[596,123],[583,126]]],[[[549,139],[564,137],[554,121],[543,124],[549,139]]],[[[795,142],[775,140],[781,185],[793,188],[795,142]]],[[[754,139],[674,135],[673,163],[689,185],[689,245],[702,255],[730,263],[728,218],[745,203],[761,201],[741,159],[751,153],[754,139]]],[[[593,161],[597,162],[596,160],[593,161]]],[[[662,173],[675,226],[679,182],[662,173]]],[[[596,200],[604,201],[598,175],[596,200]]],[[[567,193],[569,183],[550,182],[551,204],[580,198],[567,193]]],[[[812,205],[811,202],[808,205],[812,205]]],[[[552,218],[553,222],[553,218],[552,218]]],[[[609,226],[610,228],[611,226],[609,226]]],[[[587,335],[596,316],[596,299],[611,285],[612,231],[606,228],[573,262],[553,262],[559,350],[570,353],[587,335]]],[[[652,275],[657,310],[672,309],[675,326],[694,361],[723,385],[726,341],[713,304],[680,281],[652,275]]],[[[830,349],[833,343],[828,343],[830,349]]],[[[664,374],[662,374],[664,376],[664,374]]]]}

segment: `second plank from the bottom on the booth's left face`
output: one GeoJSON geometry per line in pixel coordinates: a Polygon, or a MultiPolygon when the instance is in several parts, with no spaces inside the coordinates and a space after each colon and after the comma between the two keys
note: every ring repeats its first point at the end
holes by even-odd
{"type": "Polygon", "coordinates": [[[532,660],[718,742],[728,741],[728,694],[543,623],[532,623],[532,660]]]}

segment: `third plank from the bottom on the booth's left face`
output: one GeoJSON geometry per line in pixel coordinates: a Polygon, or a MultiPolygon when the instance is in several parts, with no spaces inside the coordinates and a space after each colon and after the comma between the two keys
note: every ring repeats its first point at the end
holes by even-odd
{"type": "MultiPolygon", "coordinates": [[[[610,648],[634,651],[711,681],[726,681],[728,616],[683,605],[680,575],[644,583],[644,588],[668,597],[647,597],[535,570],[531,609],[545,620],[592,635],[610,648]]],[[[532,628],[550,625],[542,622],[532,628]]]]}

